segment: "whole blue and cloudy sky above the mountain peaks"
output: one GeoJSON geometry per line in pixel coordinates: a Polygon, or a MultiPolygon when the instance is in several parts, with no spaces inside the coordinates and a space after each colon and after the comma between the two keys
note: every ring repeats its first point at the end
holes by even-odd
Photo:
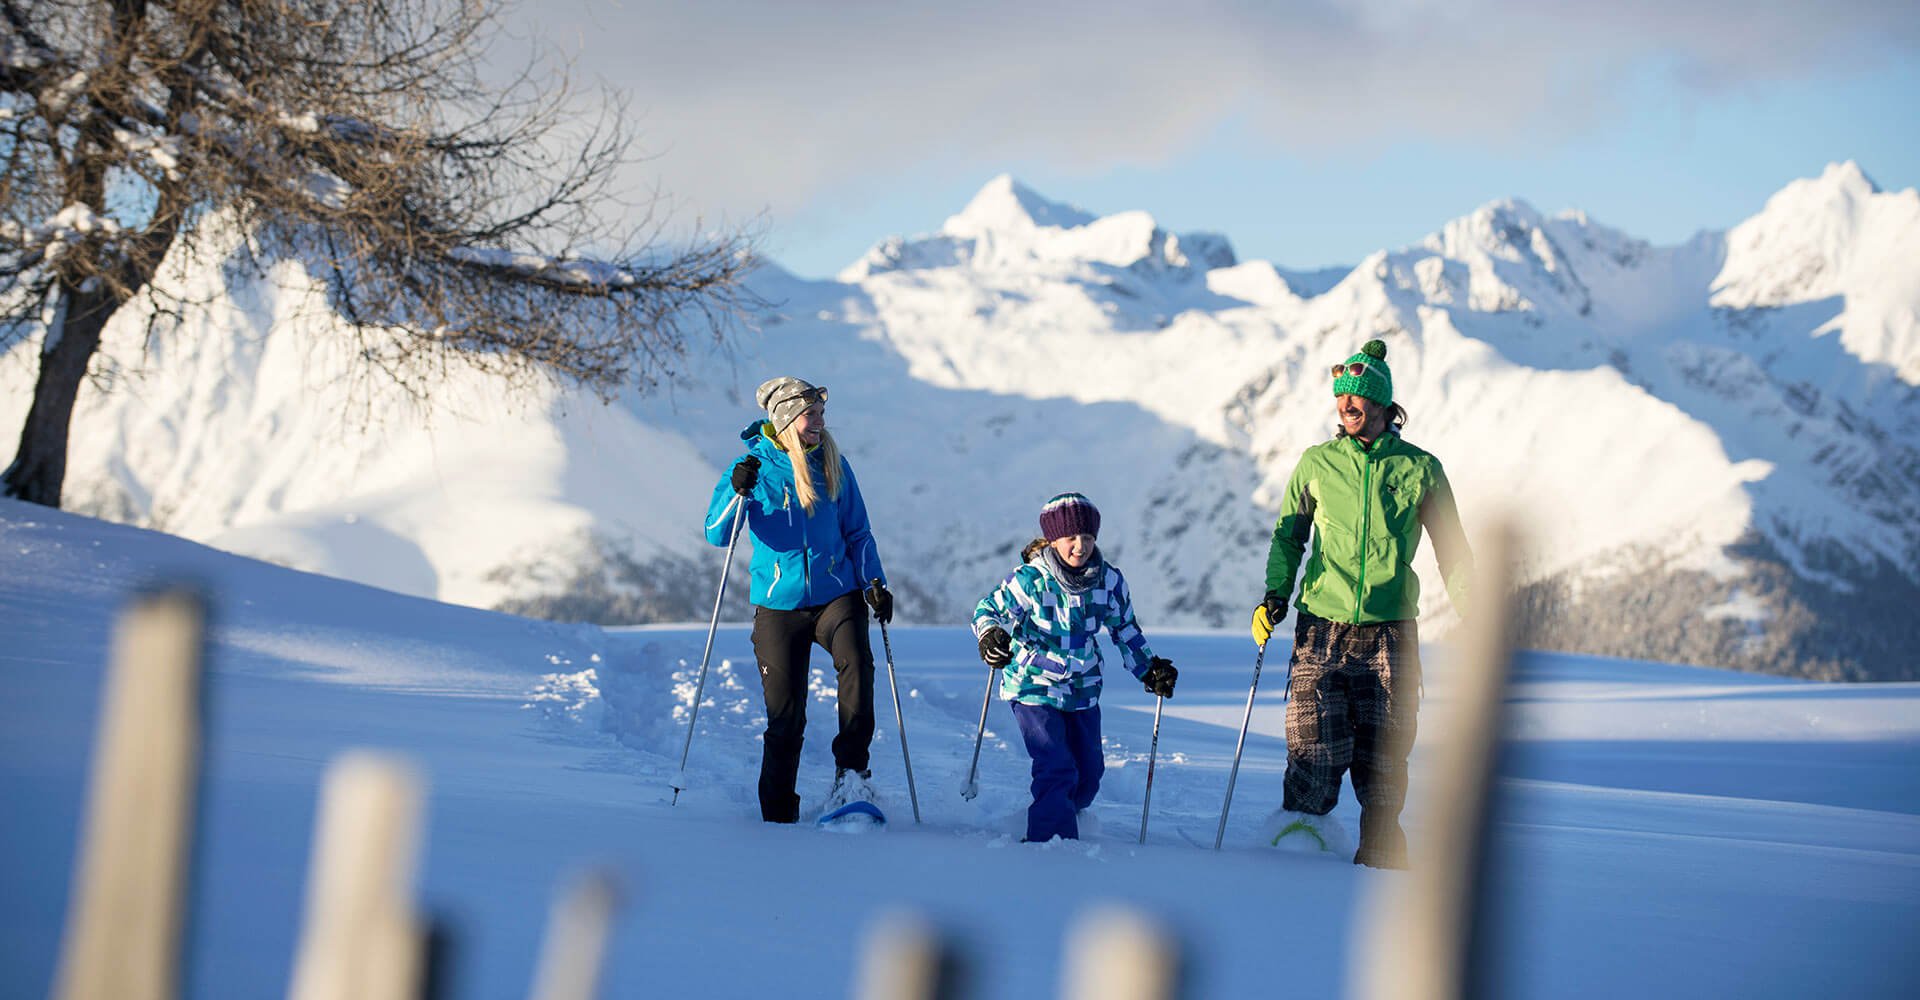
{"type": "Polygon", "coordinates": [[[1853,159],[1920,184],[1920,4],[705,6],[540,35],[624,96],[630,186],[829,276],[998,173],[1242,259],[1354,263],[1496,198],[1657,244],[1853,159]]]}

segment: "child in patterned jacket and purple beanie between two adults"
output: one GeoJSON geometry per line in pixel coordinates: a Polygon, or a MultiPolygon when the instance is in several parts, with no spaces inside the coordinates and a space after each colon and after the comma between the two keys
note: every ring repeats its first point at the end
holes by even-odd
{"type": "Polygon", "coordinates": [[[1100,791],[1100,647],[1112,635],[1127,670],[1150,695],[1173,697],[1173,662],[1146,647],[1119,570],[1100,559],[1100,511],[1079,493],[1041,509],[1041,536],[1025,564],[973,608],[973,635],[989,670],[1006,668],[1000,699],[1033,758],[1027,841],[1079,839],[1079,812],[1100,791]]]}

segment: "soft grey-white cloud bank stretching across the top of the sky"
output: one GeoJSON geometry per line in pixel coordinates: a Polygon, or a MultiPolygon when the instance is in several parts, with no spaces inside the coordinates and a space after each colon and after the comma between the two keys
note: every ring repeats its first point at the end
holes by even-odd
{"type": "Polygon", "coordinates": [[[632,100],[657,179],[776,215],[925,163],[1156,163],[1240,115],[1300,154],[1553,142],[1634,111],[1920,52],[1920,4],[780,0],[530,4],[632,100]]]}

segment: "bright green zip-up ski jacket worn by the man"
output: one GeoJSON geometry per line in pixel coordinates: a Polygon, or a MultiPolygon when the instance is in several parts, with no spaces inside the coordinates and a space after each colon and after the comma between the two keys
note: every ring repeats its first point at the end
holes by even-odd
{"type": "Polygon", "coordinates": [[[1373,447],[1346,436],[1313,445],[1286,480],[1267,549],[1267,591],[1283,601],[1292,595],[1311,536],[1296,608],[1352,624],[1417,618],[1421,578],[1413,553],[1421,528],[1434,537],[1453,610],[1467,614],[1473,553],[1440,459],[1392,432],[1373,447]]]}

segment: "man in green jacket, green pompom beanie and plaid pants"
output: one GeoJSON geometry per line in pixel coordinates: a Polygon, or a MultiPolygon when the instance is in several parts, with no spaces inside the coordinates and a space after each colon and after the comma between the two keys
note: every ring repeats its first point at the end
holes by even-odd
{"type": "Polygon", "coordinates": [[[1354,864],[1405,868],[1400,808],[1421,687],[1413,553],[1425,528],[1461,614],[1473,553],[1440,459],[1400,438],[1407,413],[1394,403],[1386,345],[1369,340],[1334,365],[1332,395],[1340,430],[1309,447],[1286,480],[1267,549],[1267,595],[1254,608],[1254,641],[1265,647],[1286,616],[1311,537],[1294,601],[1284,802],[1267,837],[1275,846],[1344,852],[1348,841],[1327,814],[1340,775],[1352,770],[1359,798],[1354,864]]]}

